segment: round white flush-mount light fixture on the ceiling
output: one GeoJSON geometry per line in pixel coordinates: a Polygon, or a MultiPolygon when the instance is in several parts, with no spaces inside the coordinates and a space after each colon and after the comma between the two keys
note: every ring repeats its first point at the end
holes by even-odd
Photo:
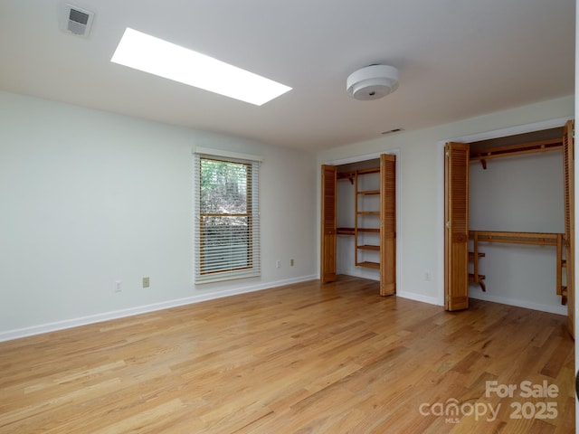
{"type": "Polygon", "coordinates": [[[398,89],[398,70],[394,66],[370,65],[354,71],[346,80],[347,94],[355,99],[379,99],[398,89]]]}

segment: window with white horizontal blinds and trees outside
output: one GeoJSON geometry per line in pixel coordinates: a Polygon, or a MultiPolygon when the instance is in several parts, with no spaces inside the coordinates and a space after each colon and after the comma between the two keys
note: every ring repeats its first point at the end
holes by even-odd
{"type": "Polygon", "coordinates": [[[195,154],[195,283],[260,276],[258,184],[257,160],[195,154]]]}

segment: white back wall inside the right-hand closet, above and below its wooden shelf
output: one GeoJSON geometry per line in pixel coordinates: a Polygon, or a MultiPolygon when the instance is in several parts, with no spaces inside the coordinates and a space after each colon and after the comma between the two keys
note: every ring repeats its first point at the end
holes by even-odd
{"type": "MultiPolygon", "coordinates": [[[[492,159],[486,170],[471,162],[470,229],[564,232],[562,152],[492,159]]],[[[472,286],[470,297],[566,315],[556,295],[555,247],[480,243],[479,250],[487,291],[472,286]]]]}

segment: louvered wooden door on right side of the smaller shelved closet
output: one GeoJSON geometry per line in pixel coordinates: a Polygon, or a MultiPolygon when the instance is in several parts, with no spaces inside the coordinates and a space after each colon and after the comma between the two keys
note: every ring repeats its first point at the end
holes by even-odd
{"type": "Polygon", "coordinates": [[[380,156],[380,295],[396,293],[396,156],[380,156]]]}

